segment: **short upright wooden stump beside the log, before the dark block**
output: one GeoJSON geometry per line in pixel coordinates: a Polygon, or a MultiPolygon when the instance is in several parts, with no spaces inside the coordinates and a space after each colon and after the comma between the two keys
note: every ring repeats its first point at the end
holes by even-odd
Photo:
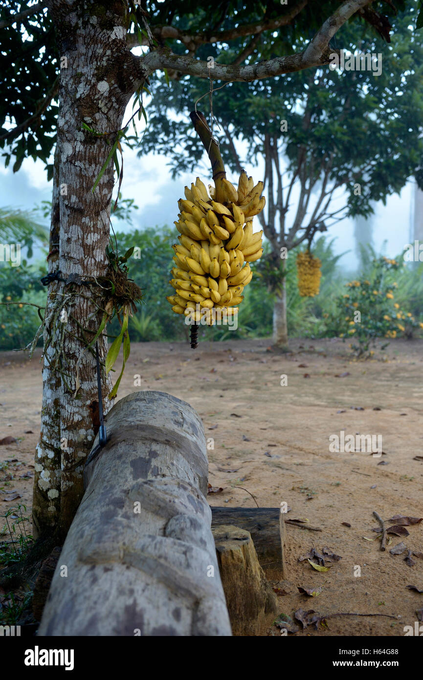
{"type": "Polygon", "coordinates": [[[212,532],[233,634],[256,635],[265,615],[277,611],[277,604],[251,535],[225,524],[214,526],[212,532]]]}

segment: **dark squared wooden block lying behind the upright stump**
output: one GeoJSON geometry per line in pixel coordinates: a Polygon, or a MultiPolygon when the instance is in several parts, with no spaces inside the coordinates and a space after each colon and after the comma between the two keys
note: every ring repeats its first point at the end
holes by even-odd
{"type": "Polygon", "coordinates": [[[212,528],[232,524],[250,532],[258,562],[269,580],[287,578],[284,569],[285,524],[280,508],[212,507],[212,528]]]}

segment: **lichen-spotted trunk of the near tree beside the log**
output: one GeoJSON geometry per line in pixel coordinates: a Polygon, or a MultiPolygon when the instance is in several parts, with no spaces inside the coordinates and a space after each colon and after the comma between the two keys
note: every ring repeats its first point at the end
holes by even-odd
{"type": "MultiPolygon", "coordinates": [[[[99,328],[102,313],[100,288],[81,284],[105,275],[105,248],[109,240],[109,212],[114,186],[110,162],[99,184],[92,186],[106,162],[133,91],[135,76],[126,47],[128,6],[124,2],[90,3],[48,0],[61,54],[60,109],[57,147],[60,157],[60,254],[58,269],[64,282],[50,285],[48,306],[63,302],[67,322],[56,323],[54,345],[62,338],[58,373],[44,369],[44,422],[37,450],[35,532],[54,524],[65,537],[83,492],[84,461],[99,428],[95,358],[84,347],[99,328]],[[85,123],[95,130],[83,129],[85,123]],[[77,377],[76,365],[79,363],[77,377]],[[58,426],[60,411],[60,428],[58,426]],[[60,489],[56,469],[61,446],[60,489]],[[42,466],[42,469],[40,469],[42,466]],[[60,503],[60,515],[57,513],[60,503]]],[[[139,83],[137,83],[139,84],[139,83]]],[[[56,262],[54,263],[56,264],[56,262]]],[[[66,318],[64,316],[64,318],[66,318]]],[[[99,338],[103,361],[107,350],[99,338]]],[[[52,347],[45,359],[56,358],[52,347]]],[[[103,375],[104,410],[110,407],[110,382],[103,375]]]]}

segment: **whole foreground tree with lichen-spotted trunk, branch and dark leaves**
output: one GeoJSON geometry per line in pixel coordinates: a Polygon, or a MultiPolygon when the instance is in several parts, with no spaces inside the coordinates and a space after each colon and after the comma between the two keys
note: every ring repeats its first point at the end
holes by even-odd
{"type": "MultiPolygon", "coordinates": [[[[95,357],[86,347],[107,305],[107,296],[95,288],[96,279],[112,275],[106,250],[114,188],[111,161],[118,162],[126,105],[135,93],[139,101],[148,78],[158,70],[167,69],[169,77],[185,73],[208,78],[207,61],[197,58],[205,45],[218,50],[224,44],[235,46],[233,61],[216,64],[214,70],[214,78],[226,82],[263,80],[325,65],[331,37],[350,17],[362,12],[360,17],[387,37],[387,20],[380,12],[392,14],[394,7],[389,0],[298,0],[289,6],[275,0],[242,5],[149,0],[143,8],[132,0],[46,0],[30,7],[2,0],[0,8],[0,143],[5,162],[14,158],[17,170],[24,156],[41,158],[53,180],[48,254],[52,276],[44,324],[33,520],[35,535],[56,530],[63,537],[80,503],[84,460],[99,427],[95,357]],[[303,37],[294,53],[293,32],[303,37]],[[263,48],[245,65],[259,42],[257,34],[263,48]],[[137,43],[143,46],[139,55],[130,51],[137,43]],[[6,50],[13,61],[8,61],[6,50]],[[57,271],[59,279],[54,277],[57,271]],[[63,309],[68,321],[59,326],[63,309]]],[[[103,363],[104,333],[99,353],[103,363]]],[[[103,373],[106,411],[111,406],[109,388],[103,373]]]]}

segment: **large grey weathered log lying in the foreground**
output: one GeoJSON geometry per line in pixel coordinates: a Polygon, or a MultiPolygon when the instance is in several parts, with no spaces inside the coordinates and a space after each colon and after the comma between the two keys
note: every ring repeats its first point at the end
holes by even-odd
{"type": "Polygon", "coordinates": [[[204,428],[165,392],[107,415],[39,635],[231,635],[207,504],[204,428]]]}

